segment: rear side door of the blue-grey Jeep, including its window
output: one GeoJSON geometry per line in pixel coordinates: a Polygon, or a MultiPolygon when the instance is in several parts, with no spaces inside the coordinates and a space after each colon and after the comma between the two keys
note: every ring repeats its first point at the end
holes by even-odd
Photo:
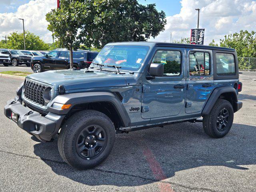
{"type": "Polygon", "coordinates": [[[186,113],[200,112],[213,88],[212,50],[187,49],[186,113]]]}

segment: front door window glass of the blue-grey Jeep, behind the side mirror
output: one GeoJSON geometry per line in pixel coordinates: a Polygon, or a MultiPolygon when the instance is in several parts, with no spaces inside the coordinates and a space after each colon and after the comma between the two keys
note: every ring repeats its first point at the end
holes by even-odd
{"type": "Polygon", "coordinates": [[[159,50],[152,63],[164,65],[164,76],[178,76],[181,72],[181,53],[180,51],[159,50]]]}

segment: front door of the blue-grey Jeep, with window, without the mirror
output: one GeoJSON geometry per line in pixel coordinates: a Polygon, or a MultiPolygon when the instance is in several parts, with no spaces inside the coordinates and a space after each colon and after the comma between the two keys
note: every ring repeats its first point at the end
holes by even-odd
{"type": "Polygon", "coordinates": [[[143,78],[142,118],[178,115],[186,93],[185,49],[158,47],[151,63],[162,63],[164,76],[143,78]]]}

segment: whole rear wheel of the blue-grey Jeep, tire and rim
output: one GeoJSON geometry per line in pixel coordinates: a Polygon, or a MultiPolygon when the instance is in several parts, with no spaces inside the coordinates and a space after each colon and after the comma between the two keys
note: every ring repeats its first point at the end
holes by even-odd
{"type": "Polygon", "coordinates": [[[209,114],[203,118],[204,132],[212,138],[222,138],[233,124],[233,107],[227,100],[218,99],[209,114]]]}

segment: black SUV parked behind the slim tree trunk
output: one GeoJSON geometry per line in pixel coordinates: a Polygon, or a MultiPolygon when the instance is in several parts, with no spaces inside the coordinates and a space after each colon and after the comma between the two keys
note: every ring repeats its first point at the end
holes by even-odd
{"type": "MultiPolygon", "coordinates": [[[[98,52],[92,51],[73,51],[74,68],[88,68],[98,52]]],[[[31,69],[34,73],[45,70],[61,70],[70,68],[68,50],[53,50],[45,56],[34,56],[31,62],[31,69]]]]}

